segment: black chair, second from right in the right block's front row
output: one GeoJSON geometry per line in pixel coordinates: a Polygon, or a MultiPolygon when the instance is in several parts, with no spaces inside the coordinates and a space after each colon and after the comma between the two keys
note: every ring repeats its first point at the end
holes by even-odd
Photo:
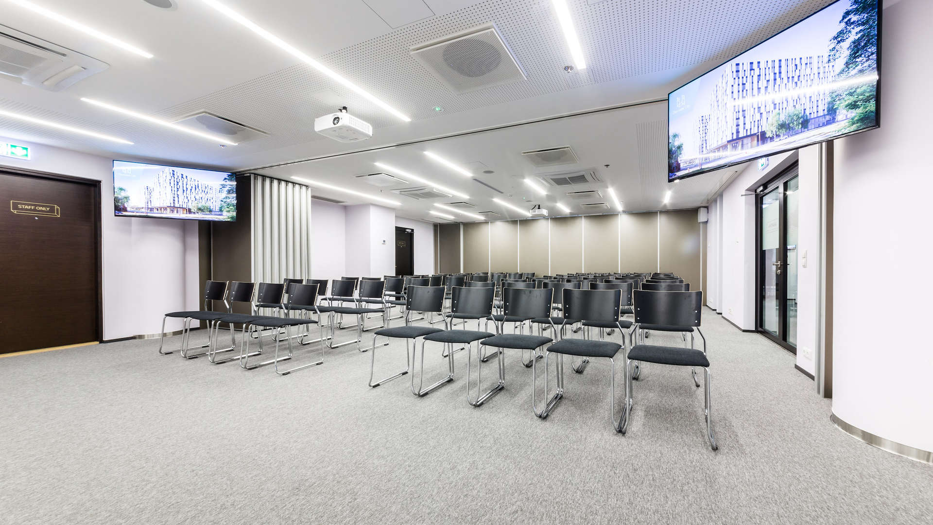
{"type": "MultiPolygon", "coordinates": [[[[619,305],[621,302],[620,290],[577,290],[564,289],[564,315],[573,319],[580,319],[584,322],[594,323],[617,323],[619,322],[619,305]]],[[[624,339],[623,339],[624,343],[624,339]]],[[[544,361],[544,397],[547,400],[544,408],[540,411],[535,403],[535,393],[537,392],[537,376],[533,378],[532,386],[532,409],[538,418],[545,419],[550,412],[557,406],[557,403],[564,397],[564,355],[577,356],[586,359],[608,358],[611,362],[610,371],[610,420],[613,422],[616,430],[621,428],[615,424],[616,419],[616,362],[615,357],[622,348],[619,343],[612,341],[594,341],[592,339],[577,339],[573,337],[564,337],[554,343],[545,351],[544,361]],[[548,370],[550,368],[550,354],[558,354],[555,364],[555,373],[557,376],[557,391],[548,399],[548,370]]]]}

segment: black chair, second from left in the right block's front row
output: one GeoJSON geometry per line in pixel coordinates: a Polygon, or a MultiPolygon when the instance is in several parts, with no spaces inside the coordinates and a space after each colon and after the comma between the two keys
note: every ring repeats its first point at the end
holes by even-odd
{"type": "MultiPolygon", "coordinates": [[[[490,286],[469,286],[474,283],[466,283],[466,287],[454,287],[453,296],[451,300],[451,313],[448,316],[451,316],[453,319],[483,319],[493,313],[493,296],[495,289],[492,286],[493,283],[480,283],[476,282],[475,284],[489,284],[490,286]]],[[[413,372],[411,374],[411,393],[417,396],[424,396],[432,390],[438,389],[441,385],[444,385],[450,381],[453,381],[453,352],[456,351],[453,349],[453,345],[466,345],[467,352],[472,352],[473,343],[479,341],[480,339],[485,339],[487,337],[492,337],[493,333],[483,332],[479,330],[444,330],[442,332],[428,333],[422,338],[421,342],[421,371],[418,374],[413,372]],[[443,357],[447,358],[448,364],[448,375],[433,385],[424,388],[425,383],[425,343],[427,341],[434,341],[437,343],[442,343],[443,357]],[[418,379],[418,388],[414,386],[414,378],[416,375],[420,375],[418,379]]],[[[412,356],[417,362],[417,355],[414,355],[414,351],[417,348],[412,348],[412,356]]],[[[458,348],[459,349],[459,348],[458,348]]],[[[469,358],[467,358],[469,359],[469,358]]],[[[469,368],[467,367],[467,375],[469,368]]],[[[467,377],[467,384],[469,384],[469,378],[467,377]]]]}

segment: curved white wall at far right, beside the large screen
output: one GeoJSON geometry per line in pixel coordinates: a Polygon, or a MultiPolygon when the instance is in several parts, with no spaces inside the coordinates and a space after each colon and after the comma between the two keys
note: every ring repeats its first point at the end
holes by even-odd
{"type": "Polygon", "coordinates": [[[881,128],[836,141],[832,411],[857,428],[933,451],[933,260],[925,133],[933,2],[884,8],[881,128]],[[898,273],[919,278],[900,281],[898,273]]]}

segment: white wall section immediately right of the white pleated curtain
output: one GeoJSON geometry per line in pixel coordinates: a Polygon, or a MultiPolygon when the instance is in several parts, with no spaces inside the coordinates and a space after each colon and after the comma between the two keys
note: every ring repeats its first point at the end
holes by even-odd
{"type": "Polygon", "coordinates": [[[346,271],[346,206],[325,201],[311,205],[311,277],[335,279],[346,271]]]}

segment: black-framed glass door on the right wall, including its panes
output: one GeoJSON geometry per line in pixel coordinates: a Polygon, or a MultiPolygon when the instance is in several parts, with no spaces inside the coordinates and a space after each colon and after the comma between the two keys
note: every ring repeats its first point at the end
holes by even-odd
{"type": "Polygon", "coordinates": [[[797,353],[798,189],[794,164],[758,192],[758,329],[797,353]]]}

